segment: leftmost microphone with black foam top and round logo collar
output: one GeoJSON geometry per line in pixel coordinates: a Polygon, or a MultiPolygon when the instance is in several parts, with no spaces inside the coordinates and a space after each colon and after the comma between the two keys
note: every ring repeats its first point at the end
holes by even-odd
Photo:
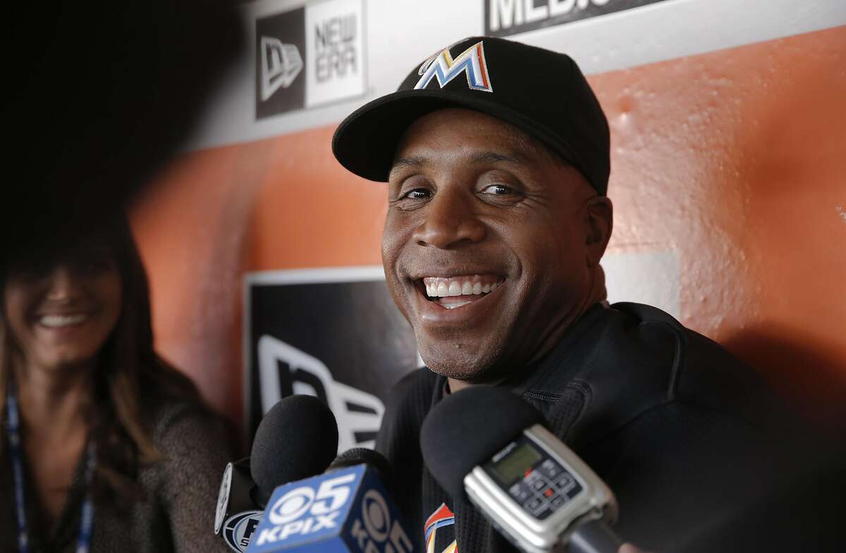
{"type": "Polygon", "coordinates": [[[250,457],[228,463],[217,495],[215,534],[244,553],[279,485],[319,474],[338,451],[338,424],[316,397],[277,402],[255,430],[250,457]]]}

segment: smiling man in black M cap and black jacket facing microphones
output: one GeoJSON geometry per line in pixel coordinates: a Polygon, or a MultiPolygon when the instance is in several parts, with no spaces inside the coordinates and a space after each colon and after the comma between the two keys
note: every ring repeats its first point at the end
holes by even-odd
{"type": "Polygon", "coordinates": [[[332,147],[387,181],[385,276],[426,368],[393,391],[377,448],[427,551],[511,547],[420,457],[422,420],[465,386],[507,386],[541,409],[640,545],[681,550],[755,493],[739,470],[769,412],[755,375],[659,309],[605,301],[608,125],[571,58],[459,41],[346,118],[332,147]]]}

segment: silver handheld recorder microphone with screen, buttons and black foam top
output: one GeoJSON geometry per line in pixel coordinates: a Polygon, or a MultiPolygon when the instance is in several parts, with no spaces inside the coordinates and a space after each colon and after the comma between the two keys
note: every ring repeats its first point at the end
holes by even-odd
{"type": "Polygon", "coordinates": [[[617,553],[613,492],[542,424],[511,391],[474,386],[432,409],[420,448],[438,484],[466,494],[520,550],[617,553]]]}

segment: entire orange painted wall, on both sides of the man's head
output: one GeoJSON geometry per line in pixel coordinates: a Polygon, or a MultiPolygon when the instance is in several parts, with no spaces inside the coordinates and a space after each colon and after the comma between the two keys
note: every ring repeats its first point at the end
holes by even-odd
{"type": "MultiPolygon", "coordinates": [[[[846,27],[590,81],[612,127],[611,249],[675,251],[684,324],[806,411],[832,402],[821,375],[846,381],[846,27]]],[[[135,213],[158,347],[233,419],[243,271],[381,262],[386,191],[334,161],[332,130],[181,156],[135,213]]]]}

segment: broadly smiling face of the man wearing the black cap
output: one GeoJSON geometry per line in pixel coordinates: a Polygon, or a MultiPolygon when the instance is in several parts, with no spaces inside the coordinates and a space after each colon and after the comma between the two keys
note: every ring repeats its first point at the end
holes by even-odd
{"type": "Polygon", "coordinates": [[[508,123],[464,109],[418,119],[388,203],[387,284],[437,373],[479,382],[520,370],[596,301],[610,202],[508,123]]]}

